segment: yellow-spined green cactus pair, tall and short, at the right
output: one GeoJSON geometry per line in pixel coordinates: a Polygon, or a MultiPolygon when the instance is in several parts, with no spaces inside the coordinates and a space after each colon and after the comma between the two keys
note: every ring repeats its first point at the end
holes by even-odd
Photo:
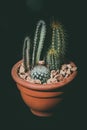
{"type": "Polygon", "coordinates": [[[65,34],[60,23],[52,23],[52,44],[47,53],[46,62],[50,68],[59,69],[66,50],[65,34]]]}

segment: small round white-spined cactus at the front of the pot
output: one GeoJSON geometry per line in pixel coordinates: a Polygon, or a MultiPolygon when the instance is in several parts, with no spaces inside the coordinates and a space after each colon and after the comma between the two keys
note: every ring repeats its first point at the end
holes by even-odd
{"type": "Polygon", "coordinates": [[[46,83],[50,78],[50,71],[43,65],[37,65],[31,70],[30,75],[32,79],[39,79],[41,83],[46,83]]]}

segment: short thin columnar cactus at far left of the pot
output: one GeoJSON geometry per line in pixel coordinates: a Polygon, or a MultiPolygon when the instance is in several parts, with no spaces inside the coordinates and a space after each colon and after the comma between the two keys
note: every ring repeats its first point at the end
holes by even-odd
{"type": "Polygon", "coordinates": [[[30,67],[30,38],[26,37],[23,44],[23,65],[25,72],[29,70],[30,67]]]}

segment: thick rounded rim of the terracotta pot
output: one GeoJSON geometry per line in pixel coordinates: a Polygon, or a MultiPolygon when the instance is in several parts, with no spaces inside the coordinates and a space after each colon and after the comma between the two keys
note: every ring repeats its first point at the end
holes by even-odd
{"type": "MultiPolygon", "coordinates": [[[[23,87],[26,87],[28,89],[33,89],[33,90],[39,90],[39,91],[49,91],[53,89],[58,89],[61,88],[65,85],[67,85],[69,82],[71,82],[77,75],[77,71],[73,72],[68,78],[65,78],[63,81],[60,81],[58,83],[54,84],[34,84],[30,83],[29,81],[25,81],[22,78],[20,78],[17,74],[18,67],[22,63],[22,60],[18,61],[15,65],[13,65],[12,70],[11,70],[11,75],[14,81],[23,87]]],[[[73,63],[73,62],[72,62],[73,63]]],[[[74,64],[74,63],[73,63],[74,64]]],[[[74,66],[76,66],[74,64],[74,66]]]]}

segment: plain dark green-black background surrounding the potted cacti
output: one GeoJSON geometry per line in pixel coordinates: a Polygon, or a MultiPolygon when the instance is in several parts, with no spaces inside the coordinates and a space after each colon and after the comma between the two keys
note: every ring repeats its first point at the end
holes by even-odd
{"type": "Polygon", "coordinates": [[[86,113],[86,3],[67,0],[0,1],[0,130],[85,128],[86,113]],[[34,116],[24,104],[11,77],[12,66],[22,58],[24,37],[33,35],[39,19],[59,20],[68,33],[68,57],[78,67],[58,113],[34,116]]]}

